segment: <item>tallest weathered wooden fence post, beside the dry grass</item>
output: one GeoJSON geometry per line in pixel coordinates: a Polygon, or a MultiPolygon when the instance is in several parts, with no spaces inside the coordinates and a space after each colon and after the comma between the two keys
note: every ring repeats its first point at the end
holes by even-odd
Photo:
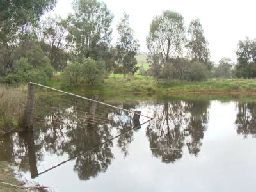
{"type": "Polygon", "coordinates": [[[26,129],[33,129],[34,97],[35,97],[34,85],[31,83],[28,83],[26,129]]]}

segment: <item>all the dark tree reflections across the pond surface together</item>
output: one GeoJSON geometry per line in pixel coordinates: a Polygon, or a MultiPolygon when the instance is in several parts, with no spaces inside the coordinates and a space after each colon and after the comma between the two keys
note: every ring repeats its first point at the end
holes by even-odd
{"type": "MultiPolygon", "coordinates": [[[[79,179],[90,180],[113,164],[114,145],[122,156],[129,156],[130,145],[135,140],[131,130],[140,128],[132,113],[102,106],[93,109],[77,100],[71,102],[72,105],[60,102],[57,105],[52,98],[42,99],[38,103],[40,110],[33,132],[0,137],[0,161],[9,161],[20,172],[37,177],[63,161],[74,159],[73,170],[79,179]],[[41,110],[45,106],[51,109],[41,110]],[[116,142],[113,142],[115,137],[116,142]]],[[[211,101],[167,100],[115,105],[131,110],[143,109],[143,113],[154,116],[155,119],[147,124],[145,136],[150,153],[163,163],[175,163],[185,150],[191,156],[200,156],[211,101]]],[[[237,134],[244,138],[248,135],[255,137],[255,102],[237,102],[235,124],[237,134]]]]}

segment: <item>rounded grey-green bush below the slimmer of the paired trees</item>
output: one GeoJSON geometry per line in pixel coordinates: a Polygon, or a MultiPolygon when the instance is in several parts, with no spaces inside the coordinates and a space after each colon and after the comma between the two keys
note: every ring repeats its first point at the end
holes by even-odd
{"type": "Polygon", "coordinates": [[[184,70],[184,79],[188,81],[202,81],[209,77],[209,72],[204,63],[194,61],[184,70]]]}

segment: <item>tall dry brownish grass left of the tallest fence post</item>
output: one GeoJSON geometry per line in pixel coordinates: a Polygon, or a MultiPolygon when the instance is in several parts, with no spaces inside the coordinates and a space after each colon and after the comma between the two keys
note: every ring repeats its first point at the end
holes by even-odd
{"type": "Polygon", "coordinates": [[[0,133],[19,127],[24,115],[26,86],[9,87],[0,84],[0,133]]]}

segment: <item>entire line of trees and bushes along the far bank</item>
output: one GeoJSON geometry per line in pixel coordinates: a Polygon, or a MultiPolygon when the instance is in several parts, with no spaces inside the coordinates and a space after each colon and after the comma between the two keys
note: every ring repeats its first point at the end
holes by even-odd
{"type": "Polygon", "coordinates": [[[126,13],[116,26],[116,45],[111,45],[113,14],[105,3],[74,0],[73,14],[44,19],[56,0],[1,1],[0,5],[2,83],[45,83],[54,71],[61,71],[63,82],[74,86],[100,83],[111,73],[125,77],[137,71],[156,79],[189,81],[256,76],[256,40],[239,41],[236,64],[223,58],[214,65],[200,20],[192,20],[186,29],[177,12],[167,10],[152,19],[146,71],[136,65],[140,44],[126,13]]]}

